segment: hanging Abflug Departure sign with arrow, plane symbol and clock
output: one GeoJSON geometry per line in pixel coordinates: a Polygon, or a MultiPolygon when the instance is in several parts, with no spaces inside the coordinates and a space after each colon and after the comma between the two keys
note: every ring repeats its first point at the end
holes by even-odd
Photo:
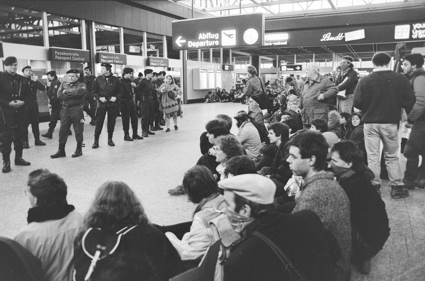
{"type": "Polygon", "coordinates": [[[261,46],[264,15],[175,20],[172,31],[173,50],[261,46]]]}

